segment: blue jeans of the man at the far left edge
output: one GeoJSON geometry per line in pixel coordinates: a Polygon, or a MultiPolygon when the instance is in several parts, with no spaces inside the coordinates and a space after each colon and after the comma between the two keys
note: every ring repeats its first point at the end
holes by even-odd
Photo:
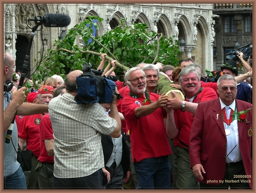
{"type": "Polygon", "coordinates": [[[21,167],[19,167],[14,174],[3,177],[3,188],[4,189],[27,189],[26,178],[21,167]]]}

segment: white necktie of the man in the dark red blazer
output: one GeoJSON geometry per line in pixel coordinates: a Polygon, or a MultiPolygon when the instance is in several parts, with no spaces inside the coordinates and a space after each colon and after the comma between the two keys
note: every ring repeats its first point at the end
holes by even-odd
{"type": "MultiPolygon", "coordinates": [[[[230,119],[230,111],[231,108],[229,106],[225,107],[227,119],[230,119]]],[[[232,120],[229,120],[229,123],[232,122],[232,120]]],[[[227,135],[227,157],[233,161],[236,158],[236,134],[233,129],[233,125],[230,124],[229,126],[225,123],[227,129],[230,130],[230,135],[227,135]]]]}

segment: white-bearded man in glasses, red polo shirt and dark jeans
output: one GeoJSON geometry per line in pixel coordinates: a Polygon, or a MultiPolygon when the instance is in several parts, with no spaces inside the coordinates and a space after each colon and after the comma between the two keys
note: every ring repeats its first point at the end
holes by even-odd
{"type": "Polygon", "coordinates": [[[172,150],[166,131],[173,126],[169,122],[174,122],[174,117],[173,111],[166,108],[170,105],[168,96],[148,93],[145,72],[138,67],[127,71],[125,82],[130,94],[122,99],[121,112],[130,130],[137,189],[170,189],[168,156],[172,150]]]}

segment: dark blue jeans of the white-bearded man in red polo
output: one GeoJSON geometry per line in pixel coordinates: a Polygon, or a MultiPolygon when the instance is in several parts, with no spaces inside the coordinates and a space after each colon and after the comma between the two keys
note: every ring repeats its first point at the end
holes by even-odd
{"type": "Polygon", "coordinates": [[[138,177],[137,189],[171,189],[171,169],[168,156],[151,157],[134,162],[138,177]]]}

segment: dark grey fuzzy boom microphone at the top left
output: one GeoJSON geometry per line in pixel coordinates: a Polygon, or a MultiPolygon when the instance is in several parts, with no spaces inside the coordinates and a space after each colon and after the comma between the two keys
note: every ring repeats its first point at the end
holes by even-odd
{"type": "Polygon", "coordinates": [[[35,16],[29,21],[35,21],[35,24],[44,24],[45,27],[66,27],[70,25],[71,18],[67,14],[50,14],[46,13],[44,16],[35,16]]]}

